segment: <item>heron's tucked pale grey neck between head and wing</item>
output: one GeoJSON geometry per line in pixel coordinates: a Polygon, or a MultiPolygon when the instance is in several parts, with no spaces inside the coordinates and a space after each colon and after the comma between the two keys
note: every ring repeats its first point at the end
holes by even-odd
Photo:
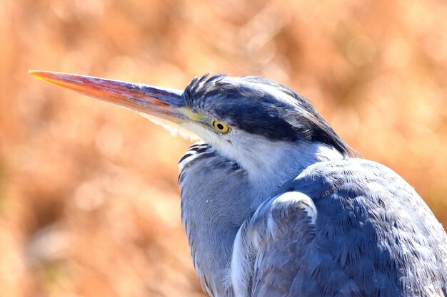
{"type": "Polygon", "coordinates": [[[282,150],[262,159],[247,154],[236,161],[214,147],[202,146],[196,154],[191,149],[186,152],[187,158],[181,162],[182,222],[195,269],[210,296],[233,296],[228,287],[228,266],[243,221],[304,168],[343,158],[321,143],[278,147],[282,150]],[[256,166],[247,165],[253,164],[251,157],[256,158],[256,166]]]}

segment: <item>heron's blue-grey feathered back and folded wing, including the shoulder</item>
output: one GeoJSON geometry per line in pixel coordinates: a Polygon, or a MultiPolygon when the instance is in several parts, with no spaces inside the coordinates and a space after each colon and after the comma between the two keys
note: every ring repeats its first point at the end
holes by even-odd
{"type": "Polygon", "coordinates": [[[252,267],[232,274],[239,296],[447,296],[446,232],[395,172],[322,162],[280,192],[236,237],[231,269],[252,267]]]}

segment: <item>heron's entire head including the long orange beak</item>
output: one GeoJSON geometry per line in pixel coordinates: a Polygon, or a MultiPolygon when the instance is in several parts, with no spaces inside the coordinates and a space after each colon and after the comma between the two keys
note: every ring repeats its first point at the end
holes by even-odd
{"type": "Polygon", "coordinates": [[[265,78],[204,75],[184,90],[172,90],[68,73],[31,74],[136,110],[171,131],[209,142],[236,160],[249,156],[259,160],[281,147],[316,142],[351,155],[348,145],[305,98],[265,78]]]}

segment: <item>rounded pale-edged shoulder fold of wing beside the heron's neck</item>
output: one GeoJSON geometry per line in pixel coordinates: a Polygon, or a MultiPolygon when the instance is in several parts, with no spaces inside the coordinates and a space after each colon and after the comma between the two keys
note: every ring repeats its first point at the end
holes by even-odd
{"type": "Polygon", "coordinates": [[[231,259],[235,296],[288,296],[315,239],[310,197],[286,192],[261,204],[236,235],[231,259]]]}

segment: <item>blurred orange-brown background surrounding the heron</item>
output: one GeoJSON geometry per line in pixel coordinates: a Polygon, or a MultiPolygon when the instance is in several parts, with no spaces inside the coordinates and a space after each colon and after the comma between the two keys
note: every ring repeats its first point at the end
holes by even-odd
{"type": "Polygon", "coordinates": [[[441,0],[1,0],[0,296],[204,296],[176,185],[190,143],[29,69],[277,80],[446,225],[446,16],[441,0]]]}

